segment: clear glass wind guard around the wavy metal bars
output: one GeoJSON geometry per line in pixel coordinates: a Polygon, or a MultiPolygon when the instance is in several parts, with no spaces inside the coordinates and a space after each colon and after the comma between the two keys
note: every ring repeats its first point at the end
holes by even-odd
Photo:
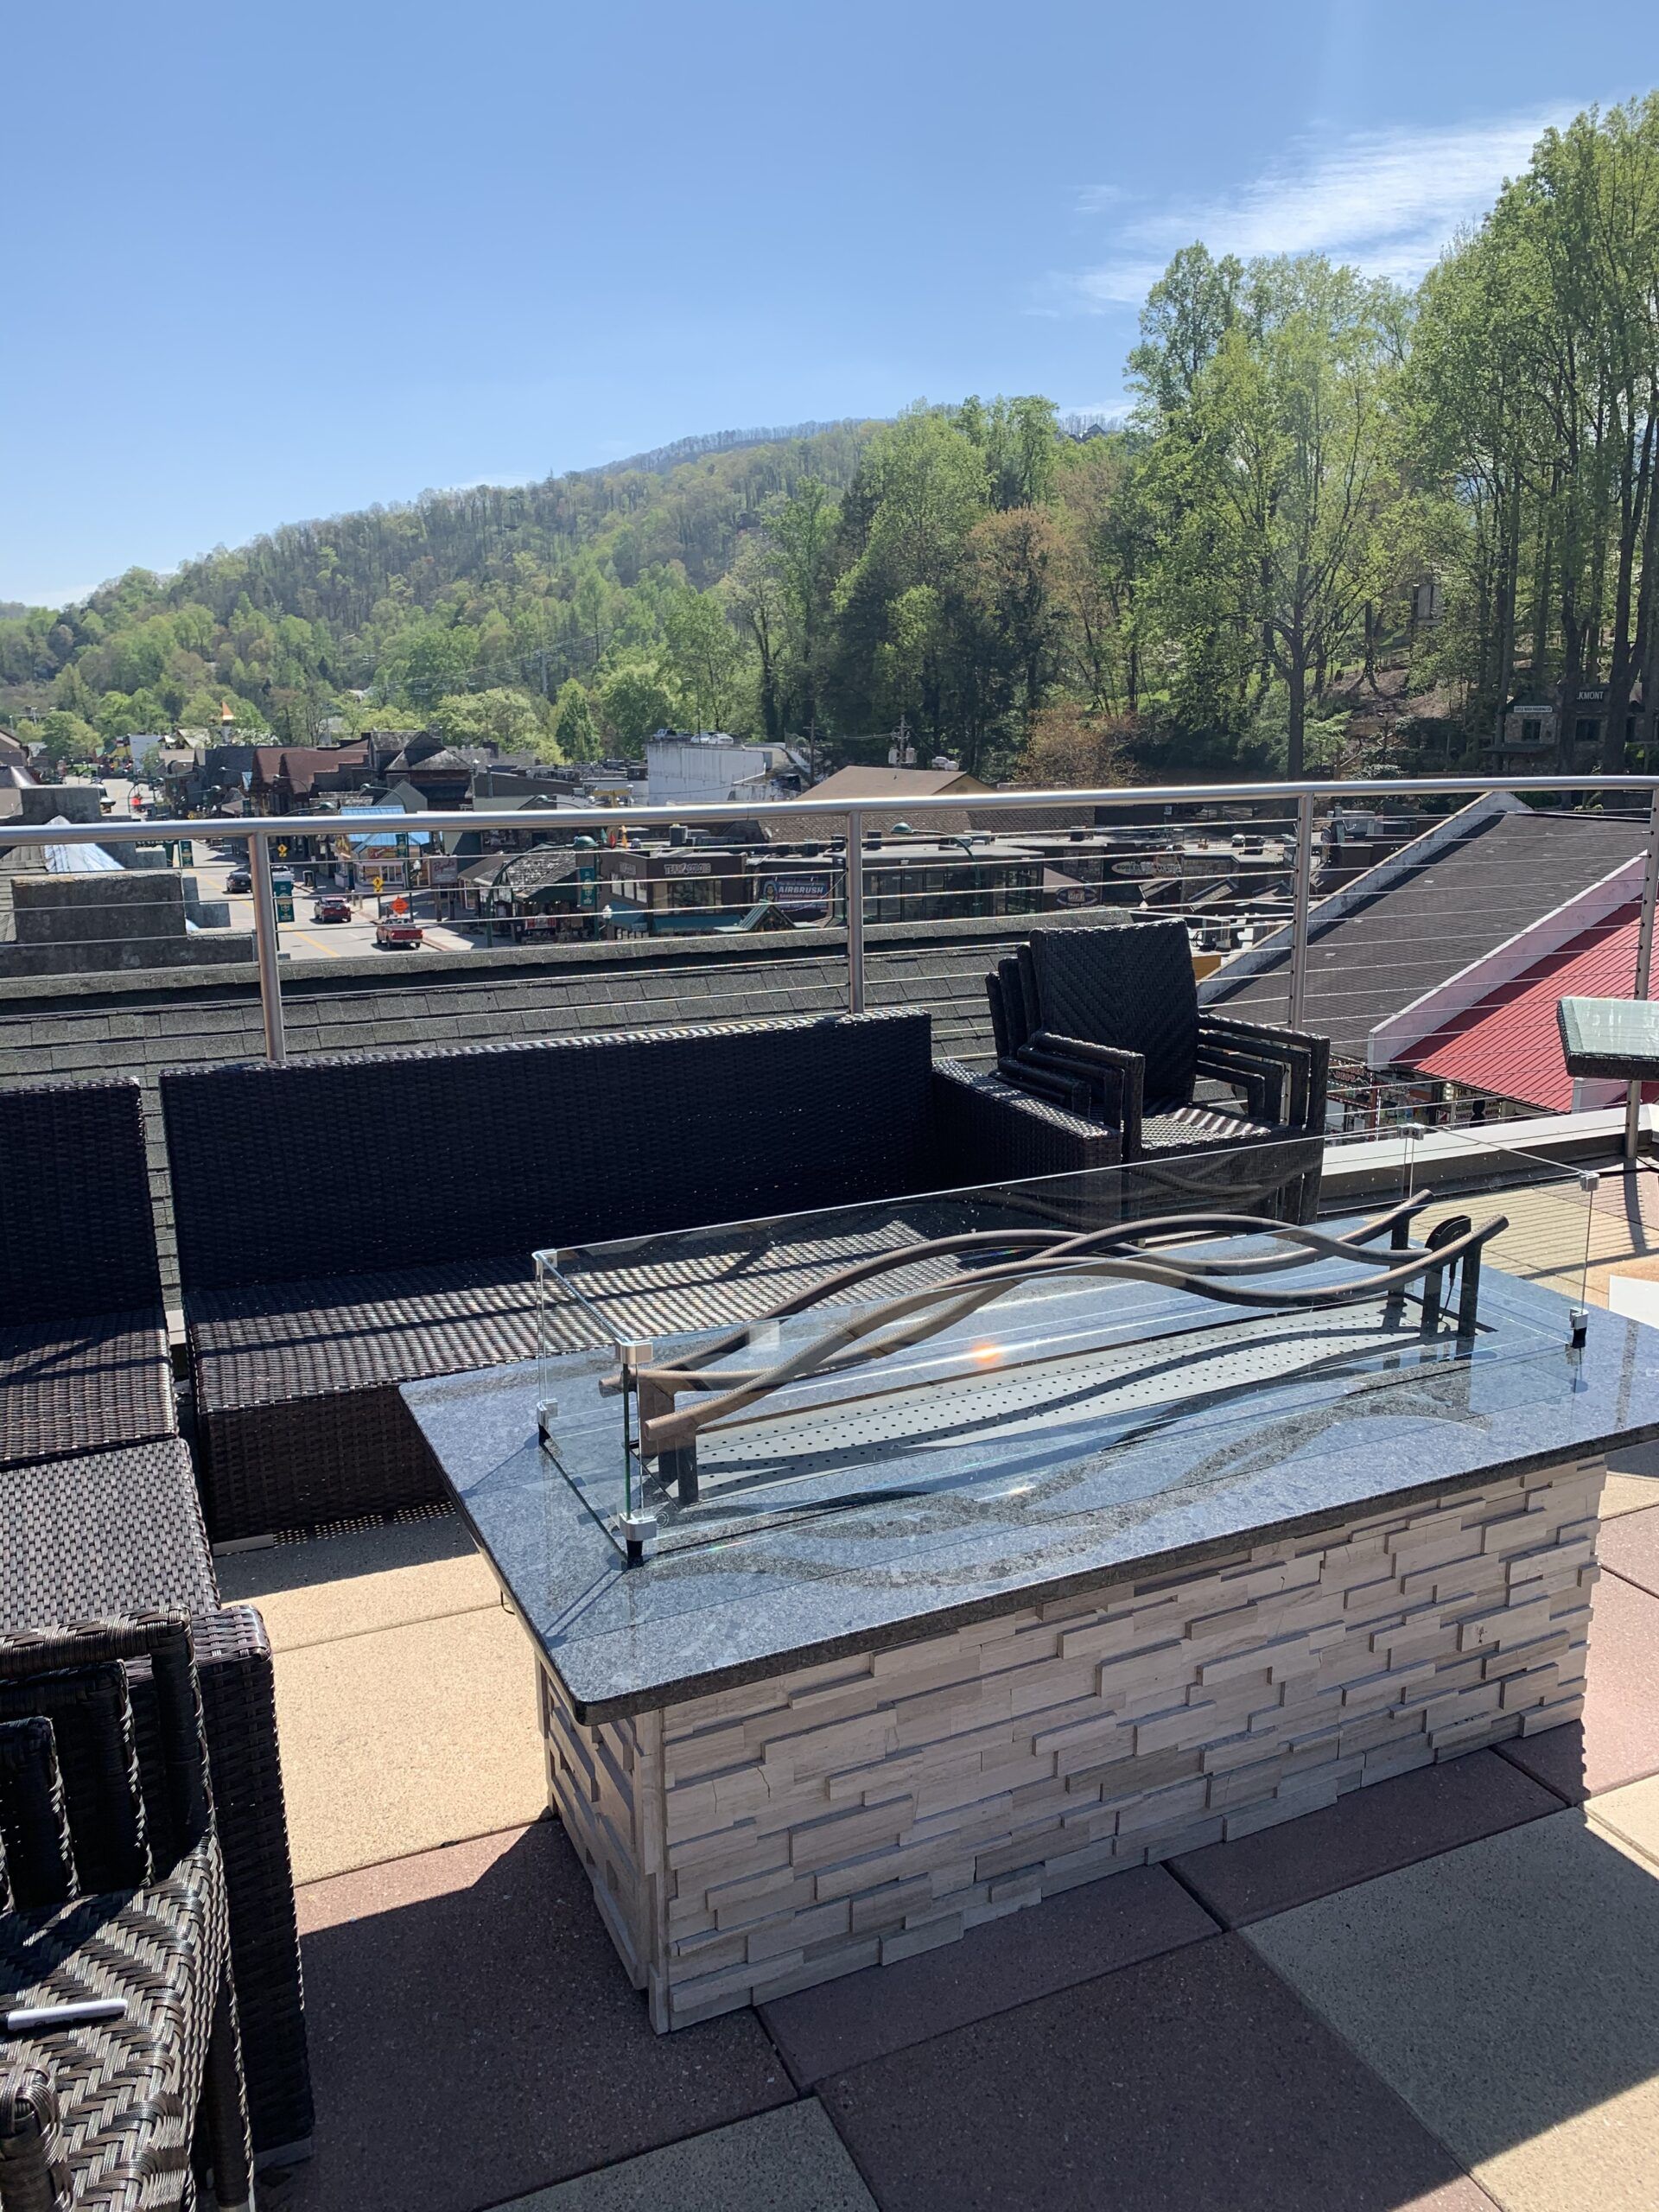
{"type": "Polygon", "coordinates": [[[540,1252],[542,1444],[650,1557],[872,1504],[931,1528],[1177,1422],[1248,1449],[1263,1394],[1564,1343],[1553,1301],[1482,1305],[1504,1161],[1460,1152],[1447,1203],[1420,1150],[1228,1146],[540,1252]]]}

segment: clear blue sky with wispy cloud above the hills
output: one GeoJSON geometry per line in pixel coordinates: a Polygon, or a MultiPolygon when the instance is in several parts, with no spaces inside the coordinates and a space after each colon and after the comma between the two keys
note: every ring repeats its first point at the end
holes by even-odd
{"type": "Polygon", "coordinates": [[[1192,237],[1409,279],[1652,0],[91,0],[7,40],[0,599],[690,431],[1121,400],[1192,237]]]}

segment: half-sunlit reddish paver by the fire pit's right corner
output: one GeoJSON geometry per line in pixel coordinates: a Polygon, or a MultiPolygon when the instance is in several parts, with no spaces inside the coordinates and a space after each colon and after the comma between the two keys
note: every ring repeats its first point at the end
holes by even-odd
{"type": "Polygon", "coordinates": [[[1584,1721],[1498,1750],[1566,1805],[1659,1774],[1659,1597],[1601,1575],[1590,1608],[1584,1721]]]}

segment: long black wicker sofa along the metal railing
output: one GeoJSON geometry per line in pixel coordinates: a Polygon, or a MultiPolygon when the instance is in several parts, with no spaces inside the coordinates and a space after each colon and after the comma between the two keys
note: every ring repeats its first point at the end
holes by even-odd
{"type": "Polygon", "coordinates": [[[398,1385],[535,1349],[531,1254],[1104,1166],[927,1013],[161,1075],[215,1542],[434,1500],[398,1385]]]}

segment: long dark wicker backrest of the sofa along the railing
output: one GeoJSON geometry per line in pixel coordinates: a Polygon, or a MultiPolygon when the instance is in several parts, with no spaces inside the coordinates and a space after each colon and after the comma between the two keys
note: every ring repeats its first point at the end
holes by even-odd
{"type": "Polygon", "coordinates": [[[186,1290],[303,1283],[338,1252],[374,1274],[487,1263],[922,1188],[931,1024],[894,1011],[173,1068],[161,1106],[186,1290]]]}

